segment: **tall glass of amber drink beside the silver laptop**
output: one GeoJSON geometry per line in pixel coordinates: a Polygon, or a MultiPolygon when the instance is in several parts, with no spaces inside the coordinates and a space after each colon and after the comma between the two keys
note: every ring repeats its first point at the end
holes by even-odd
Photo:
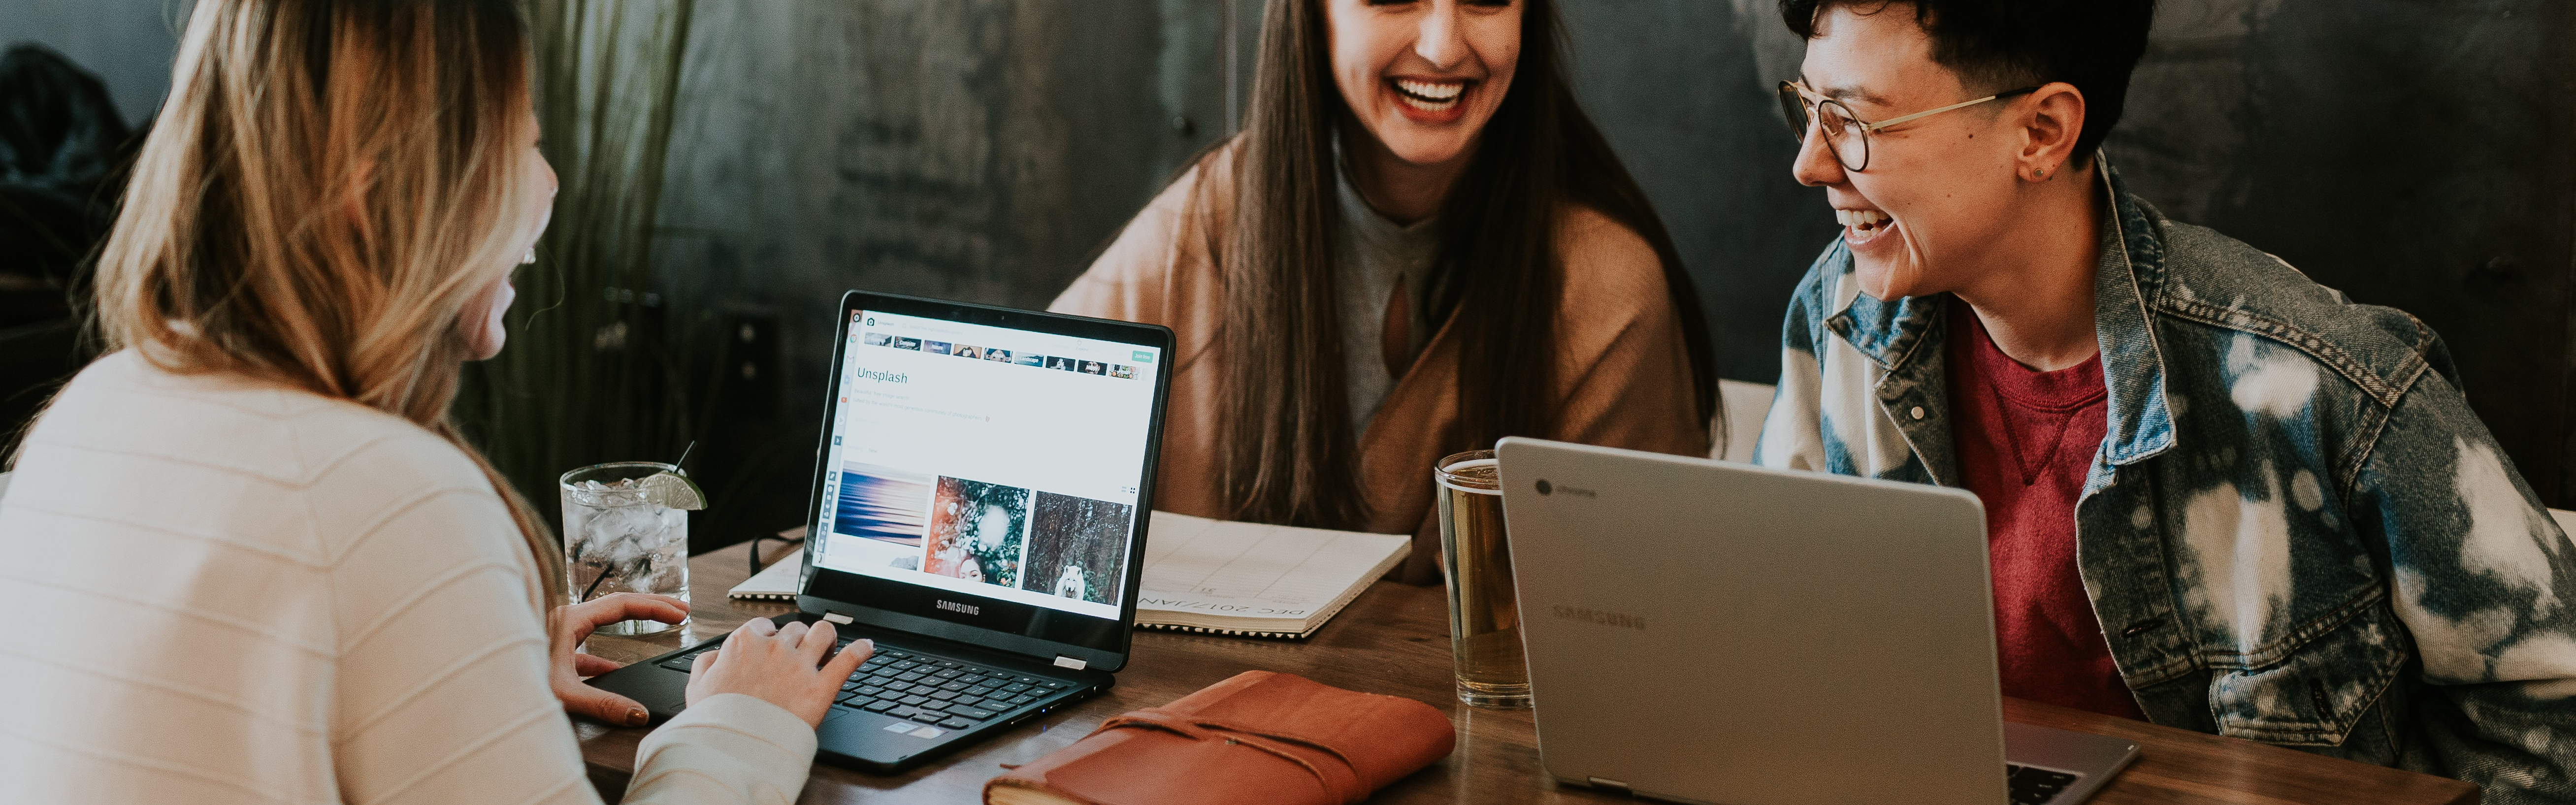
{"type": "Polygon", "coordinates": [[[1512,543],[1502,530],[1502,476],[1494,450],[1468,450],[1432,466],[1440,484],[1440,556],[1450,592],[1450,651],[1458,702],[1530,707],[1530,666],[1520,653],[1520,602],[1512,597],[1512,543]]]}

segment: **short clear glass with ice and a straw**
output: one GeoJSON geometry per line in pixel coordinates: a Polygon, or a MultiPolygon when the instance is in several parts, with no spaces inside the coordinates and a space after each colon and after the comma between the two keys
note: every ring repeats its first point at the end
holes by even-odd
{"type": "MultiPolygon", "coordinates": [[[[677,466],[623,460],[564,473],[564,574],[572,602],[649,592],[688,602],[688,509],[654,504],[644,478],[677,466]]],[[[683,620],[685,622],[685,620],[683,620]]],[[[680,622],[618,620],[598,635],[652,635],[680,622]]]]}

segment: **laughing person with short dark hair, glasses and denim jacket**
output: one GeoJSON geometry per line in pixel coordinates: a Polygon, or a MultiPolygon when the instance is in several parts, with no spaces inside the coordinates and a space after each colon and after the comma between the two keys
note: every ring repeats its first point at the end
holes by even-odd
{"type": "Polygon", "coordinates": [[[2004,692],[2576,797],[2576,548],[2424,321],[2102,157],[2151,0],[1780,0],[1844,224],[1754,460],[1986,504],[2004,692]]]}

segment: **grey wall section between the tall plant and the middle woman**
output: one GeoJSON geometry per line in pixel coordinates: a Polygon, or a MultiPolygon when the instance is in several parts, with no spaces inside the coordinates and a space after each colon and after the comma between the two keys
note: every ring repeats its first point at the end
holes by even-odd
{"type": "Polygon", "coordinates": [[[698,3],[657,262],[683,337],[773,319],[786,391],[716,399],[714,530],[796,522],[842,291],[1046,306],[1226,134],[1229,5],[698,3]]]}

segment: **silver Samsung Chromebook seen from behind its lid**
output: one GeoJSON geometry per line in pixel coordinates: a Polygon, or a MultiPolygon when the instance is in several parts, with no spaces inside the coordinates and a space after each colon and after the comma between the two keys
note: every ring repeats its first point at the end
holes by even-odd
{"type": "Polygon", "coordinates": [[[1538,754],[1723,805],[2071,805],[2138,756],[2007,725],[1960,489],[1510,437],[1538,754]]]}

